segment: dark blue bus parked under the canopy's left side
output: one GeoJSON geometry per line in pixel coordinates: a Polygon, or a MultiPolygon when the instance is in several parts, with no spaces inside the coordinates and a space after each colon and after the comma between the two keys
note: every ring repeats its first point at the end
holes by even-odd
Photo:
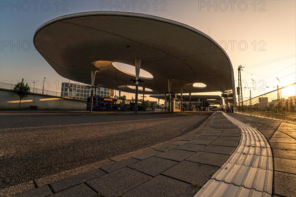
{"type": "MultiPolygon", "coordinates": [[[[87,97],[86,110],[90,110],[91,97],[87,97]]],[[[93,96],[93,111],[113,111],[120,110],[119,105],[122,101],[120,99],[100,97],[97,95],[93,96]]]]}

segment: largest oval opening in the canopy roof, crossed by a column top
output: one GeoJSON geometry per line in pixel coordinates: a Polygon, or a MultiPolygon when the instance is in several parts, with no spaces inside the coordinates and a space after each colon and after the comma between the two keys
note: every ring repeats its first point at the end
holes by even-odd
{"type": "MultiPolygon", "coordinates": [[[[130,76],[134,76],[136,77],[136,69],[135,69],[135,66],[132,66],[132,65],[129,65],[129,64],[124,64],[124,63],[120,63],[120,62],[112,62],[112,65],[119,71],[121,71],[122,73],[125,73],[127,75],[130,75],[130,76]]],[[[141,79],[153,79],[153,76],[143,70],[143,69],[140,69],[140,76],[139,78],[141,79]]]]}

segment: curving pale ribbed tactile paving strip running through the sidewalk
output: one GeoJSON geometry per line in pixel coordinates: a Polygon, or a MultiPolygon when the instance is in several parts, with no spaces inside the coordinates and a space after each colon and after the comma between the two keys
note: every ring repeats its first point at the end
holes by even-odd
{"type": "Polygon", "coordinates": [[[271,197],[273,165],[267,140],[251,125],[223,115],[241,129],[241,140],[194,197],[271,197]]]}

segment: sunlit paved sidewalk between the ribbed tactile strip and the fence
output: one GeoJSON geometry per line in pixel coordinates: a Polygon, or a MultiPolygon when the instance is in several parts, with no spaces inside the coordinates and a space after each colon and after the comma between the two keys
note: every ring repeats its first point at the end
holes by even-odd
{"type": "Polygon", "coordinates": [[[273,197],[296,197],[296,124],[236,113],[227,115],[256,127],[273,155],[273,197]]]}

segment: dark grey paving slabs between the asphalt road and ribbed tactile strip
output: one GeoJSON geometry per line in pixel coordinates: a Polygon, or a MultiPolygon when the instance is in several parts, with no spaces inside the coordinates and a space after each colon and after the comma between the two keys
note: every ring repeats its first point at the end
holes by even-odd
{"type": "Polygon", "coordinates": [[[185,137],[17,197],[193,197],[229,158],[240,129],[221,113],[185,137]]]}

